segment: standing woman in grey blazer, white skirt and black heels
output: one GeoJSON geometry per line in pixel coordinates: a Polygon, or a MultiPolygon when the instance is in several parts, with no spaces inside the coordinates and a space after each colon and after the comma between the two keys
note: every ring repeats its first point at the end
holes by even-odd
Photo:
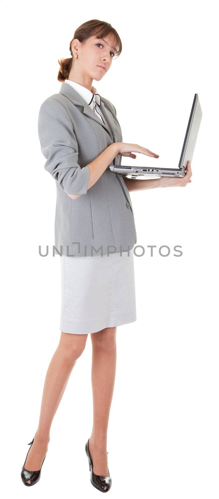
{"type": "Polygon", "coordinates": [[[185,178],[143,182],[111,172],[109,165],[115,159],[117,164],[122,156],[135,159],[133,152],[158,157],[138,144],[122,142],[114,105],[100,98],[92,86],[93,79],[100,81],[113,57],[121,53],[120,37],[111,24],[92,19],[76,29],[69,49],[71,57],[59,61],[60,92],[42,103],[38,119],[45,169],[56,180],[57,189],[55,251],[61,255],[61,336],[46,373],[38,428],[21,479],[27,487],[40,479],[52,420],[90,334],[93,428],[85,451],[92,485],[108,492],[107,428],[115,381],[116,329],[136,320],[136,230],[129,192],[185,186],[192,172],[189,163],[185,178]],[[96,254],[99,250],[101,254],[96,254]]]}

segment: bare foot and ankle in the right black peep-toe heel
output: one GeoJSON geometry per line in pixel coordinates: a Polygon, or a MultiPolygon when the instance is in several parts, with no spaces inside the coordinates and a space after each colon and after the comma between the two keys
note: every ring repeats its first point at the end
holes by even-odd
{"type": "MultiPolygon", "coordinates": [[[[89,439],[89,453],[93,463],[93,473],[101,477],[108,477],[107,450],[105,444],[97,444],[89,439]]],[[[105,485],[104,490],[108,489],[105,485]]]]}

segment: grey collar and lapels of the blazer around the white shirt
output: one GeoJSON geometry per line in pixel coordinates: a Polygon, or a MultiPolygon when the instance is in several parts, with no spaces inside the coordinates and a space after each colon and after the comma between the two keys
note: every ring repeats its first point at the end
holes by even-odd
{"type": "Polygon", "coordinates": [[[100,118],[98,118],[97,114],[93,111],[93,109],[91,109],[89,104],[83,99],[83,97],[78,92],[76,92],[76,90],[71,85],[63,81],[59,93],[67,97],[72,102],[72,104],[78,106],[81,112],[85,116],[89,116],[89,118],[96,121],[100,126],[102,126],[106,130],[106,132],[110,134],[111,138],[114,140],[114,132],[115,132],[114,120],[110,110],[107,108],[108,104],[106,102],[104,103],[103,101],[104,97],[101,97],[100,108],[98,106],[98,112],[100,112],[100,114],[103,115],[104,119],[103,123],[103,121],[100,120],[100,118]]]}

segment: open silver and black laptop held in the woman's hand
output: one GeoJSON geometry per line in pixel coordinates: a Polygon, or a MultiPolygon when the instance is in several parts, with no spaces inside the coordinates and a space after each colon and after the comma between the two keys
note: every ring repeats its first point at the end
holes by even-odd
{"type": "Polygon", "coordinates": [[[196,140],[199,132],[199,127],[202,119],[202,109],[199,102],[198,94],[195,94],[189,123],[183,143],[183,149],[180,156],[179,168],[159,168],[147,166],[124,166],[113,165],[109,166],[110,170],[121,174],[122,177],[129,178],[160,178],[160,177],[185,177],[187,162],[193,159],[193,153],[196,145],[196,140]]]}

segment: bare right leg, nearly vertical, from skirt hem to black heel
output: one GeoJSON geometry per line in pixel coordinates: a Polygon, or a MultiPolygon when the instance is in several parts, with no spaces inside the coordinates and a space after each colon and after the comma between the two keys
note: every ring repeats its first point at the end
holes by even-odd
{"type": "MultiPolygon", "coordinates": [[[[116,374],[116,327],[91,333],[93,391],[93,428],[89,451],[93,472],[107,477],[107,428],[116,374]]],[[[104,487],[104,490],[107,486],[104,487]]]]}

